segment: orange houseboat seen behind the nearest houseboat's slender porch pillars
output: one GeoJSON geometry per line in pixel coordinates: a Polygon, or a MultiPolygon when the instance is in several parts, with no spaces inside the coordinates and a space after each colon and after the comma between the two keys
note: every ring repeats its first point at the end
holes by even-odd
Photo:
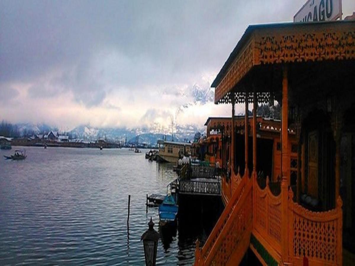
{"type": "MultiPolygon", "coordinates": [[[[253,118],[248,118],[249,124],[252,124],[253,118]]],[[[257,134],[257,150],[260,153],[257,154],[258,158],[264,158],[262,164],[258,167],[258,182],[265,184],[266,178],[270,183],[273,184],[275,190],[279,189],[278,180],[281,177],[281,121],[273,118],[265,118],[257,116],[256,118],[256,134],[257,134]]],[[[232,165],[231,161],[231,117],[209,117],[205,123],[207,132],[206,138],[201,139],[198,142],[200,146],[200,151],[206,150],[206,153],[199,154],[198,157],[204,157],[204,161],[208,162],[211,166],[218,166],[225,173],[222,178],[222,200],[226,205],[229,198],[231,197],[231,175],[232,175],[232,165]],[[203,148],[201,148],[204,146],[203,148]]],[[[235,147],[240,147],[245,149],[244,139],[245,139],[245,117],[235,116],[234,117],[234,136],[235,136],[235,147]]],[[[249,142],[252,142],[252,128],[249,129],[249,142]]],[[[289,144],[291,147],[290,156],[293,161],[293,167],[290,169],[291,175],[291,185],[295,188],[295,182],[297,178],[297,169],[294,165],[294,160],[297,160],[297,140],[296,140],[296,129],[289,128],[289,144]]],[[[251,146],[248,147],[250,150],[248,158],[248,168],[252,171],[252,150],[251,146]]],[[[234,173],[244,174],[245,169],[245,157],[243,153],[236,153],[234,158],[234,173]]]]}

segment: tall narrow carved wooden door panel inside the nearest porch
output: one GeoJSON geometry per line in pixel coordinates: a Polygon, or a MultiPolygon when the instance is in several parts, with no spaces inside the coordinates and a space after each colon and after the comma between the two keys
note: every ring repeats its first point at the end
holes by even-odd
{"type": "Polygon", "coordinates": [[[318,142],[317,131],[308,134],[308,194],[318,198],[318,142]]]}

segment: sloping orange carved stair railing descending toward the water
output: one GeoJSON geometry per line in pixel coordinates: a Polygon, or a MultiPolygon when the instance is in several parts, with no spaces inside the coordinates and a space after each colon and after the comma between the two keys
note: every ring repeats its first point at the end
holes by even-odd
{"type": "Polygon", "coordinates": [[[197,240],[195,265],[223,265],[235,254],[236,264],[242,259],[252,228],[252,185],[249,177],[243,177],[201,250],[197,240]],[[243,251],[235,253],[239,248],[243,251]]]}

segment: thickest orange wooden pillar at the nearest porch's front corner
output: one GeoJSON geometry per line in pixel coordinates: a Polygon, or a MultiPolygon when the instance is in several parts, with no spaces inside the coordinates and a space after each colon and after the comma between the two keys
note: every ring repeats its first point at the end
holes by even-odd
{"type": "MultiPolygon", "coordinates": [[[[282,182],[281,182],[281,253],[284,262],[289,261],[289,224],[288,224],[288,179],[287,173],[290,168],[290,153],[288,150],[288,75],[287,66],[283,68],[282,79],[282,182]]],[[[293,232],[290,232],[293,234],[293,232]]]]}

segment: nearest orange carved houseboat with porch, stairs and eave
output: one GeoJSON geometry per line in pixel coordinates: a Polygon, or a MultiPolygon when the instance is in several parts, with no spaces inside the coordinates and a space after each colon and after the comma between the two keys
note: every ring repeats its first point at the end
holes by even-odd
{"type": "Polygon", "coordinates": [[[345,264],[343,246],[355,246],[354,70],[354,21],[246,29],[212,84],[215,103],[232,105],[230,181],[224,174],[226,206],[202,247],[197,240],[195,265],[236,265],[248,248],[268,265],[345,264]],[[270,99],[282,105],[277,193],[274,174],[258,181],[268,158],[259,156],[256,109],[270,99]],[[236,103],[245,104],[244,145],[236,103]]]}

